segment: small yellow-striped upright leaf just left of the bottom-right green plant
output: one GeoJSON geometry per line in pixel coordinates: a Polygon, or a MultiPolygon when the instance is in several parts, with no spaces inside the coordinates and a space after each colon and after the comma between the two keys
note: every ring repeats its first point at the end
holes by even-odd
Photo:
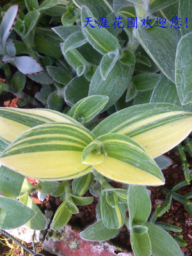
{"type": "Polygon", "coordinates": [[[124,225],[125,207],[124,204],[117,203],[111,207],[106,200],[106,191],[102,191],[100,196],[100,211],[104,225],[109,229],[118,229],[124,225]],[[109,212],[109,214],[107,213],[109,212]]]}

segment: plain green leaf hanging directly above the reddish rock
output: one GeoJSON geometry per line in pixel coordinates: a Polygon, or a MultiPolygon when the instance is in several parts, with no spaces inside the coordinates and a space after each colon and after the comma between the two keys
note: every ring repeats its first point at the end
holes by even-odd
{"type": "Polygon", "coordinates": [[[88,241],[106,241],[115,237],[119,231],[120,228],[106,228],[102,220],[100,220],[91,225],[90,227],[86,228],[85,230],[83,230],[83,232],[80,233],[80,236],[82,239],[88,241]]]}

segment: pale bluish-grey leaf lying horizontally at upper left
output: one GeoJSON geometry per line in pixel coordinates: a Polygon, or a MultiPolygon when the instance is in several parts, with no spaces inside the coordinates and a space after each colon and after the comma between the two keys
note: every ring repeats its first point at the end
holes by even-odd
{"type": "Polygon", "coordinates": [[[44,71],[42,66],[29,56],[15,57],[13,63],[25,75],[39,74],[44,71]]]}

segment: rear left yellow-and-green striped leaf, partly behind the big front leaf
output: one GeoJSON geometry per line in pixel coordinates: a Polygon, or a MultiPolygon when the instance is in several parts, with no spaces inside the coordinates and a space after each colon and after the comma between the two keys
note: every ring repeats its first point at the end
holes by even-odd
{"type": "Polygon", "coordinates": [[[36,125],[51,122],[79,124],[70,116],[51,109],[19,108],[0,108],[0,122],[0,140],[6,143],[11,143],[22,132],[36,125]]]}

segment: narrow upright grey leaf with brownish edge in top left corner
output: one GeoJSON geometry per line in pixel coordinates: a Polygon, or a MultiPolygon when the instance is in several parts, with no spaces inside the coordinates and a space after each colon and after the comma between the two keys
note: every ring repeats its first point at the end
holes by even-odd
{"type": "Polygon", "coordinates": [[[4,14],[3,20],[1,22],[0,27],[0,38],[1,38],[1,45],[3,48],[6,46],[6,40],[8,36],[13,30],[15,22],[17,21],[17,17],[19,15],[19,5],[14,4],[12,5],[4,14]]]}

